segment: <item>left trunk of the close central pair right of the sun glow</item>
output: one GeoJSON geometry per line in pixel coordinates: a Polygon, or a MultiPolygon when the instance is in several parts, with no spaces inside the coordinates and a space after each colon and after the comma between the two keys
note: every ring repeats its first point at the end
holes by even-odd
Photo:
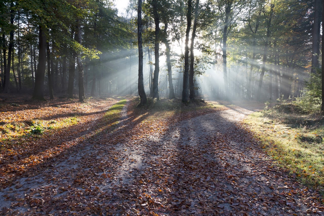
{"type": "Polygon", "coordinates": [[[184,72],[183,72],[183,89],[182,89],[182,102],[188,102],[189,98],[189,35],[191,29],[191,4],[192,1],[188,0],[188,11],[187,11],[187,29],[186,29],[186,40],[184,47],[184,72]]]}

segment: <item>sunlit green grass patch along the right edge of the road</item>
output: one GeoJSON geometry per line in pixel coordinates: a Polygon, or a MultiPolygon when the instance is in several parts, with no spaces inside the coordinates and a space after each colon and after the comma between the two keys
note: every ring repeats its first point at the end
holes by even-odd
{"type": "Polygon", "coordinates": [[[250,114],[245,123],[262,148],[303,184],[324,188],[324,120],[294,104],[250,114]]]}

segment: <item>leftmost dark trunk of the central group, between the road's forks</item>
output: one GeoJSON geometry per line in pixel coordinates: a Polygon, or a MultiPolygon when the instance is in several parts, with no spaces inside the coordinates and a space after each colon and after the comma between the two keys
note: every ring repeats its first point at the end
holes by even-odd
{"type": "Polygon", "coordinates": [[[147,98],[143,83],[143,46],[142,46],[142,0],[138,0],[137,9],[137,36],[138,36],[138,94],[141,102],[140,106],[146,104],[147,98]]]}

